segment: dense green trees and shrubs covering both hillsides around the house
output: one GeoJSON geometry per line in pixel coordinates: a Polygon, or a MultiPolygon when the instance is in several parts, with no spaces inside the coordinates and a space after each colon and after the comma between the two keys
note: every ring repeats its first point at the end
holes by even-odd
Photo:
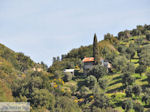
{"type": "Polygon", "coordinates": [[[54,57],[48,68],[0,44],[0,101],[27,101],[33,112],[149,112],[150,25],[108,33],[95,46],[54,57]],[[81,60],[93,51],[111,70],[96,63],[84,75],[81,60]]]}

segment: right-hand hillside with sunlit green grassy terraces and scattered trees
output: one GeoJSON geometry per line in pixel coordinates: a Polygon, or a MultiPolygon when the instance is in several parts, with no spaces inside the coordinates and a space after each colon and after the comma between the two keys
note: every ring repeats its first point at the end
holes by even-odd
{"type": "Polygon", "coordinates": [[[73,49],[68,54],[62,55],[61,60],[57,57],[49,68],[49,72],[64,80],[67,78],[65,90],[72,92],[73,97],[76,97],[75,102],[85,112],[103,112],[104,110],[100,111],[100,108],[108,108],[108,110],[106,109],[108,112],[113,111],[109,108],[123,112],[126,109],[122,108],[125,101],[133,104],[131,112],[146,111],[150,108],[149,103],[144,103],[145,94],[147,94],[146,102],[149,99],[147,93],[150,72],[149,34],[150,26],[148,25],[139,25],[136,29],[121,31],[117,37],[109,33],[106,34],[104,40],[98,42],[100,57],[109,61],[113,68],[111,73],[107,73],[97,81],[95,77],[91,76],[95,74],[84,75],[83,63],[81,62],[84,57],[92,57],[92,45],[73,49]],[[140,67],[142,70],[139,70],[140,67]],[[66,76],[62,72],[69,68],[75,69],[75,76],[66,76]],[[104,99],[99,98],[102,102],[96,102],[95,89],[99,91],[99,94],[104,94],[104,99]],[[106,102],[107,98],[109,103],[106,102]],[[101,106],[95,105],[94,102],[101,106]],[[94,110],[91,110],[93,108],[94,110]]]}

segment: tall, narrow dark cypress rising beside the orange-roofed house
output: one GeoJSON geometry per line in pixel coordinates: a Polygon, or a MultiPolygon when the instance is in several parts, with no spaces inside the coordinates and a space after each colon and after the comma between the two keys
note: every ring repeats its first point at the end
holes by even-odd
{"type": "Polygon", "coordinates": [[[93,57],[94,57],[94,64],[99,64],[99,49],[98,49],[98,42],[97,36],[94,34],[94,41],[93,41],[93,57]]]}

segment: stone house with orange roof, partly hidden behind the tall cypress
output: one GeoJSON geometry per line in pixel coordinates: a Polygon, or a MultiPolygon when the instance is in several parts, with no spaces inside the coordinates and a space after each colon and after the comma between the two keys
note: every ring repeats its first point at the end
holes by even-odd
{"type": "MultiPolygon", "coordinates": [[[[94,57],[85,57],[83,60],[83,70],[84,73],[86,74],[88,72],[89,69],[91,69],[94,65],[94,57]]],[[[105,66],[106,68],[110,69],[111,68],[111,64],[107,61],[105,61],[103,58],[100,58],[100,62],[102,64],[102,66],[105,66]]]]}

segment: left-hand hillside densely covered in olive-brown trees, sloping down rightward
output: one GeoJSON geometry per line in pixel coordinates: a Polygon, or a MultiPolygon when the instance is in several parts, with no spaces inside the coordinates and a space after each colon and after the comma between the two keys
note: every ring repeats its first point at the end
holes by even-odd
{"type": "Polygon", "coordinates": [[[43,62],[35,63],[0,44],[0,102],[30,102],[31,112],[80,112],[78,105],[64,95],[64,81],[53,76],[43,62]],[[61,107],[62,101],[66,107],[61,107]]]}

